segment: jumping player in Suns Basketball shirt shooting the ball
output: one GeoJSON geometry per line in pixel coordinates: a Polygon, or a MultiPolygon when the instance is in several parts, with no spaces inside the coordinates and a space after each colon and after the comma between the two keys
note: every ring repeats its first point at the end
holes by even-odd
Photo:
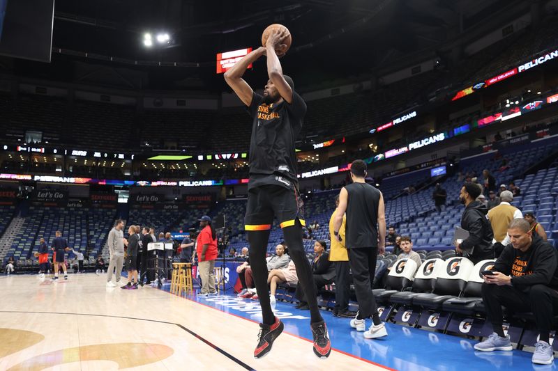
{"type": "Polygon", "coordinates": [[[263,317],[254,356],[260,358],[266,355],[284,327],[280,319],[273,315],[271,298],[264,294],[268,292],[266,248],[273,216],[276,216],[289,246],[301,288],[308,299],[314,353],[319,358],[325,358],[331,352],[331,342],[324,319],[319,313],[312,269],[302,242],[302,227],[306,221],[302,217],[296,177],[294,143],[301,132],[306,103],[294,91],[292,78],[283,74],[276,52],[278,47],[284,46],[288,37],[287,29],[271,31],[265,47],[250,52],[225,72],[225,81],[248,106],[252,116],[245,229],[250,243],[250,267],[257,292],[260,293],[263,317]],[[269,80],[263,95],[259,95],[242,76],[248,65],[262,56],[267,58],[269,80]]]}

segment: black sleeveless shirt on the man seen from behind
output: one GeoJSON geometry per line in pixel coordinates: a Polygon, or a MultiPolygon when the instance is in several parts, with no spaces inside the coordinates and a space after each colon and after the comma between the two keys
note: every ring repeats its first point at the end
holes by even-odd
{"type": "Polygon", "coordinates": [[[378,205],[382,194],[367,183],[352,183],[345,189],[349,194],[345,224],[347,248],[377,248],[378,205]]]}

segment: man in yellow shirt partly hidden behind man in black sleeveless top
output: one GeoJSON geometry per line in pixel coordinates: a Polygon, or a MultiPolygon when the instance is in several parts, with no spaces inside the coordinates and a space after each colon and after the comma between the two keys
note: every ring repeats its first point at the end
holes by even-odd
{"type": "Polygon", "coordinates": [[[338,206],[339,195],[335,196],[335,211],[329,219],[329,235],[331,239],[329,261],[335,265],[335,307],[333,307],[333,315],[335,317],[354,318],[356,313],[349,310],[351,282],[349,281],[349,254],[345,247],[345,215],[343,215],[343,223],[339,229],[341,242],[333,237],[333,221],[335,220],[338,206]]]}

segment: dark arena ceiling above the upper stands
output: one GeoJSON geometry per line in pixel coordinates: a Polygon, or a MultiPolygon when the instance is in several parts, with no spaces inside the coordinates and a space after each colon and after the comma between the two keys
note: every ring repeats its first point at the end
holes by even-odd
{"type": "MultiPolygon", "coordinates": [[[[216,93],[216,53],[257,47],[271,23],[289,27],[293,47],[284,70],[302,86],[385,68],[418,51],[436,52],[485,19],[529,1],[510,0],[56,0],[53,47],[126,61],[187,63],[137,66],[53,54],[51,65],[17,61],[19,74],[128,88],[216,93]],[[171,42],[147,48],[144,33],[171,42]],[[107,70],[108,69],[108,70],[107,70]]],[[[511,16],[511,15],[510,15],[511,16]]],[[[248,79],[263,82],[262,65],[248,79]]]]}

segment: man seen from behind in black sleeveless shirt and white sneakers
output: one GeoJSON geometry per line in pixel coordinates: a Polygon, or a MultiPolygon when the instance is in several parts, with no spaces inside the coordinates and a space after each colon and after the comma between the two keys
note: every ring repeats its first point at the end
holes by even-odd
{"type": "Polygon", "coordinates": [[[377,255],[386,251],[386,215],[382,192],[367,184],[365,177],[366,163],[359,159],[354,160],[351,164],[353,182],[343,187],[339,194],[333,238],[342,240],[339,230],[346,212],[345,246],[349,252],[354,291],[359,302],[359,312],[351,319],[351,326],[356,331],[365,331],[366,319],[372,317],[373,323],[364,332],[364,337],[374,339],[388,335],[386,324],[379,319],[372,294],[377,255]]]}

